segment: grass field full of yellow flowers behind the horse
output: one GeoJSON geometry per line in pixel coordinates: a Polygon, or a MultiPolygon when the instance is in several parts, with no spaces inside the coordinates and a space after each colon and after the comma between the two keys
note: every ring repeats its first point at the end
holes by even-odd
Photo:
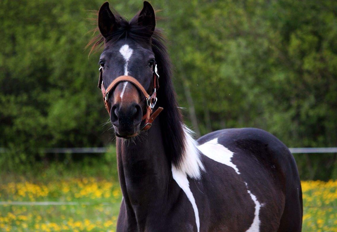
{"type": "MultiPolygon", "coordinates": [[[[302,188],[303,231],[337,231],[337,181],[303,181],[302,188]]],[[[0,231],[113,232],[121,191],[116,182],[94,178],[22,180],[1,184],[0,200],[0,231]]]]}

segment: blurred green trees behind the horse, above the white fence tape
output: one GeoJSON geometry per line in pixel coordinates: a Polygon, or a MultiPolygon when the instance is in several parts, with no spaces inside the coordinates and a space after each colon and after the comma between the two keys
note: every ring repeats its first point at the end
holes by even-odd
{"type": "MultiPolygon", "coordinates": [[[[2,168],[45,160],[40,147],[111,143],[96,87],[99,54],[84,50],[89,10],[102,3],[0,3],[0,147],[10,150],[2,168]]],[[[335,1],[151,3],[166,18],[158,25],[171,41],[178,100],[195,109],[183,111],[188,125],[200,134],[258,127],[288,147],[337,146],[335,1]]],[[[128,18],[142,6],[110,5],[128,18]]],[[[304,178],[337,173],[336,154],[296,158],[304,178]]]]}

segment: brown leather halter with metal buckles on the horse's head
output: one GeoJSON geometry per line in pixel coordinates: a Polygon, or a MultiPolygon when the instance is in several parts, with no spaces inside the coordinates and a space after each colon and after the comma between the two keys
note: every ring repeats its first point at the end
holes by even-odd
{"type": "Polygon", "coordinates": [[[102,91],[105,109],[108,111],[109,115],[110,115],[110,110],[111,110],[111,107],[108,102],[109,92],[112,89],[114,89],[119,82],[123,82],[123,81],[131,82],[134,86],[136,86],[140,90],[140,92],[142,93],[142,95],[145,96],[145,99],[146,99],[146,112],[142,117],[142,121],[145,120],[145,122],[141,130],[146,131],[150,129],[150,127],[152,126],[152,122],[156,119],[159,113],[163,110],[162,107],[158,107],[158,109],[152,113],[152,109],[157,103],[156,96],[157,96],[157,89],[159,88],[159,75],[158,75],[157,64],[155,63],[153,64],[153,91],[151,95],[147,93],[147,91],[145,90],[143,85],[139,83],[139,81],[137,81],[135,78],[131,76],[117,77],[115,80],[113,80],[113,82],[111,82],[111,84],[105,90],[104,85],[103,85],[103,67],[100,67],[98,70],[99,70],[98,88],[100,88],[102,91]]]}

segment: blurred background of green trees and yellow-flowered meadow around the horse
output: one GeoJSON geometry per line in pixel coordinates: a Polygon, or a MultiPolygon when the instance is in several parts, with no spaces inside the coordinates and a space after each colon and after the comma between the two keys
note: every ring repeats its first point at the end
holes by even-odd
{"type": "MultiPolygon", "coordinates": [[[[129,19],[143,6],[109,2],[129,19]]],[[[85,49],[102,3],[0,1],[0,231],[114,231],[114,132],[97,88],[100,51],[85,49]],[[55,150],[91,147],[107,152],[55,150]]],[[[257,127],[291,148],[337,147],[336,1],[151,4],[197,136],[257,127]]],[[[337,154],[294,156],[303,231],[336,231],[337,154]]]]}

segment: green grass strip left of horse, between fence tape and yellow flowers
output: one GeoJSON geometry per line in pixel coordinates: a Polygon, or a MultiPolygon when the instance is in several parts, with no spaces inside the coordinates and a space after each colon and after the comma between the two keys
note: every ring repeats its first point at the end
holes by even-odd
{"type": "MultiPolygon", "coordinates": [[[[23,160],[26,156],[23,153],[23,160]]],[[[108,147],[103,154],[49,154],[45,155],[42,162],[29,165],[18,165],[20,161],[7,157],[10,165],[0,170],[0,183],[20,182],[22,178],[34,182],[62,181],[69,178],[100,178],[118,181],[117,156],[114,145],[108,147]],[[49,160],[47,159],[49,158],[49,160]],[[52,162],[51,162],[52,161],[52,162]]]]}

